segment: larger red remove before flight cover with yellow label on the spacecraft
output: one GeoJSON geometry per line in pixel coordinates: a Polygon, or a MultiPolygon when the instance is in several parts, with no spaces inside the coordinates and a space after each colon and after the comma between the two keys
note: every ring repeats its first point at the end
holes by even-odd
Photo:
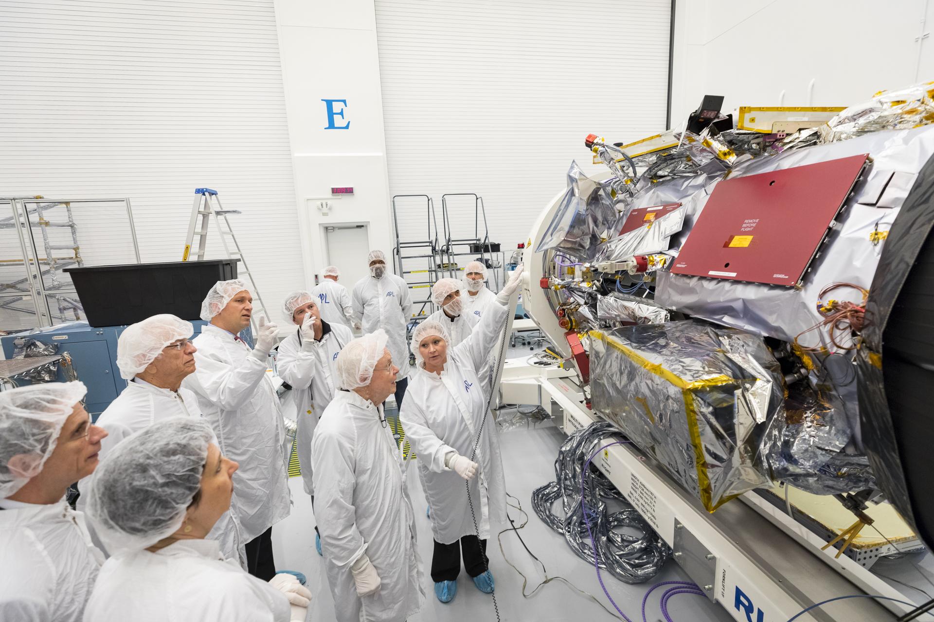
{"type": "Polygon", "coordinates": [[[720,182],[672,272],[774,285],[800,283],[867,157],[720,182]]]}

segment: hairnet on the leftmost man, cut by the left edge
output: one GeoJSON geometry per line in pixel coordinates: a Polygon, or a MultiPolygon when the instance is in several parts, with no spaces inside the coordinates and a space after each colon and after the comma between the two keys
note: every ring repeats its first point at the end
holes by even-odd
{"type": "Polygon", "coordinates": [[[46,382],[0,392],[0,499],[19,491],[49,459],[62,426],[88,392],[83,382],[46,382]],[[9,461],[16,459],[13,469],[9,461]]]}

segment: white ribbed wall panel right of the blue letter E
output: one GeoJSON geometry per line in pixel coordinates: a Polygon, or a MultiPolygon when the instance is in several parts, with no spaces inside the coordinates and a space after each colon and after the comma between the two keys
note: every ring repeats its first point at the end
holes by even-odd
{"type": "MultiPolygon", "coordinates": [[[[438,210],[445,193],[481,195],[503,249],[526,240],[572,159],[600,170],[587,133],[664,129],[670,0],[375,6],[389,194],[429,194],[438,210]]],[[[423,238],[412,214],[404,228],[423,238]]],[[[470,214],[456,237],[473,235],[470,214]]]]}

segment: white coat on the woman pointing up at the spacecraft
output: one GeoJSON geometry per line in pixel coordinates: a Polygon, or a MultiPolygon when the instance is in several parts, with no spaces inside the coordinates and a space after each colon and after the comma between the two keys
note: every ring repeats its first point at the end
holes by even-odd
{"type": "Polygon", "coordinates": [[[448,348],[441,376],[418,366],[399,413],[405,439],[418,456],[418,475],[432,508],[434,539],[443,545],[475,535],[474,515],[481,540],[489,537],[490,519],[506,519],[500,436],[487,410],[488,395],[478,390],[481,384],[477,374],[496,346],[506,312],[498,302],[490,305],[471,336],[448,348]],[[481,434],[484,417],[474,457],[474,443],[481,434]],[[473,514],[464,480],[445,466],[448,451],[457,451],[479,464],[476,477],[469,482],[473,514]]]}

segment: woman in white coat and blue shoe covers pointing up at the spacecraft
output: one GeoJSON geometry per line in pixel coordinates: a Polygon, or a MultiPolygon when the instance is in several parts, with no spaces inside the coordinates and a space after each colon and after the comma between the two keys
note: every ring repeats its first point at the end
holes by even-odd
{"type": "Polygon", "coordinates": [[[521,275],[520,266],[460,345],[450,346],[446,326],[436,322],[423,322],[412,336],[417,364],[400,419],[432,508],[432,581],[442,602],[457,593],[461,554],[474,585],[493,591],[486,541],[490,522],[506,519],[506,493],[500,438],[478,370],[502,346],[507,305],[521,275]]]}

